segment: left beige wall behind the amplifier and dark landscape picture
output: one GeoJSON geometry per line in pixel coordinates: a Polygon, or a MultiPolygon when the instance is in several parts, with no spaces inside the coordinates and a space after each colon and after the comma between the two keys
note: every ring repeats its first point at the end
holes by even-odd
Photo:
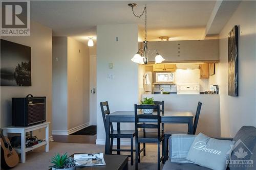
{"type": "MultiPolygon", "coordinates": [[[[2,39],[31,46],[31,87],[1,87],[1,127],[11,125],[11,98],[27,94],[46,96],[47,121],[52,119],[52,30],[31,21],[30,36],[2,36],[2,39]]],[[[50,136],[51,136],[50,125],[50,136]]],[[[44,137],[44,131],[37,131],[44,137]]]]}

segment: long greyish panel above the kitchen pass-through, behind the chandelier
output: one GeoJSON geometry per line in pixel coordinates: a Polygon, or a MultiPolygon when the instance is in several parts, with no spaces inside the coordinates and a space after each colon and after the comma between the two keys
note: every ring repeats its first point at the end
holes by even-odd
{"type": "MultiPolygon", "coordinates": [[[[147,47],[156,49],[164,62],[219,62],[218,40],[155,41],[148,42],[147,47]]],[[[150,62],[155,61],[155,55],[148,54],[150,62]]]]}

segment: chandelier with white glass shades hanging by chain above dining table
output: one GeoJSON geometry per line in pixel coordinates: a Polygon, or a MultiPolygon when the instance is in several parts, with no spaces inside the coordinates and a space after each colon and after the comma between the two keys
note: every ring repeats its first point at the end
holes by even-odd
{"type": "Polygon", "coordinates": [[[134,14],[134,16],[136,16],[136,17],[138,17],[138,18],[140,18],[144,13],[145,13],[145,41],[143,41],[143,43],[144,43],[144,47],[143,48],[141,48],[135,55],[134,55],[134,57],[131,59],[133,62],[135,62],[135,63],[138,63],[138,64],[147,64],[147,62],[148,62],[148,53],[151,51],[152,53],[156,53],[156,57],[155,57],[155,64],[157,64],[157,63],[161,63],[161,62],[163,62],[164,61],[164,58],[161,56],[161,55],[159,55],[158,54],[158,52],[155,50],[155,49],[150,49],[150,50],[147,50],[147,35],[146,35],[146,29],[147,29],[147,26],[146,26],[146,5],[145,5],[145,7],[144,7],[144,9],[143,9],[143,11],[142,11],[142,14],[141,15],[136,15],[135,13],[134,13],[134,7],[136,6],[137,4],[134,4],[134,3],[132,3],[132,4],[128,4],[128,6],[130,6],[130,7],[132,7],[132,11],[133,11],[133,14],[134,14]]]}

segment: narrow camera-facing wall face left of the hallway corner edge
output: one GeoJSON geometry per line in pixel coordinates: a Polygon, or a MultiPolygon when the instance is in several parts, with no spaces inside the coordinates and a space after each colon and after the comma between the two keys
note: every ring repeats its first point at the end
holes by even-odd
{"type": "Polygon", "coordinates": [[[52,129],[68,129],[67,37],[52,38],[52,129]]]}

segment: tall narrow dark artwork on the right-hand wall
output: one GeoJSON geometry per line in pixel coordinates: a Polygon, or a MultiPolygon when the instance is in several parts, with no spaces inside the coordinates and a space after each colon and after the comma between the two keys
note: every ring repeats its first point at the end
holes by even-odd
{"type": "Polygon", "coordinates": [[[228,34],[228,95],[238,96],[238,26],[228,34]]]}

